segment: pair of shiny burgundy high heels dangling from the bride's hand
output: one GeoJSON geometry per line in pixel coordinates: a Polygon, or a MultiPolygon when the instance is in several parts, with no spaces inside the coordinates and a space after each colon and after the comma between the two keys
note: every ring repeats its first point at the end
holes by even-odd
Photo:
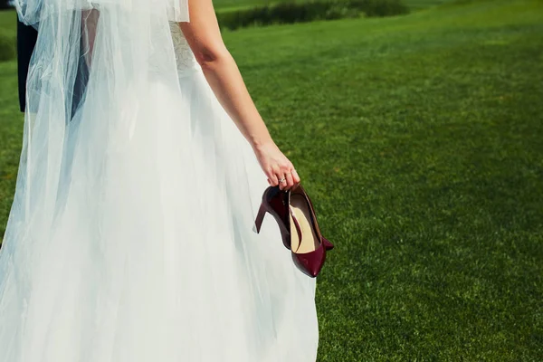
{"type": "Polygon", "coordinates": [[[282,191],[278,186],[268,187],[254,221],[257,233],[260,233],[266,213],[279,224],[282,242],[291,250],[294,264],[303,273],[316,277],[324,265],[326,252],[334,245],[320,233],[315,209],[303,187],[299,185],[288,191],[282,191]]]}

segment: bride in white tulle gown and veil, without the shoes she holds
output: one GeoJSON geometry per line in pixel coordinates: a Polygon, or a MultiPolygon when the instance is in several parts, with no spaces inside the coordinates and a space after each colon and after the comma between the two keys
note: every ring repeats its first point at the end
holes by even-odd
{"type": "Polygon", "coordinates": [[[1,362],[314,362],[315,279],[271,217],[300,176],[211,0],[16,0],[39,30],[0,252],[1,362]],[[190,21],[189,21],[190,14],[190,21]]]}

